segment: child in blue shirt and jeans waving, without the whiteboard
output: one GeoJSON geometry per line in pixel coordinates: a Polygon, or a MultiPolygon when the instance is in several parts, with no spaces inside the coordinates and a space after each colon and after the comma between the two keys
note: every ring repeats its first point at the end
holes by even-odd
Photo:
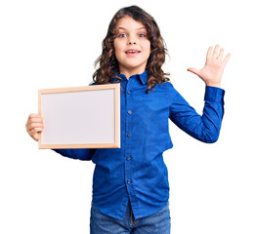
{"type": "MultiPolygon", "coordinates": [[[[137,6],[120,9],[110,21],[94,84],[121,83],[121,148],[55,149],[92,160],[91,233],[170,233],[169,183],[162,153],[173,146],[168,118],[201,141],[215,142],[224,114],[221,78],[230,54],[208,49],[198,75],[206,85],[202,116],[174,89],[161,69],[166,49],[156,22],[137,6]]],[[[31,114],[27,133],[38,140],[42,118],[31,114]]]]}

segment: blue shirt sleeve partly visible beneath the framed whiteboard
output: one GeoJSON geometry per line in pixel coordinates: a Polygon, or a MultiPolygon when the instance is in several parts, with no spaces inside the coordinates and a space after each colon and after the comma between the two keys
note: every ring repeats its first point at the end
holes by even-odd
{"type": "Polygon", "coordinates": [[[67,158],[90,161],[96,149],[53,149],[55,152],[67,158]]]}

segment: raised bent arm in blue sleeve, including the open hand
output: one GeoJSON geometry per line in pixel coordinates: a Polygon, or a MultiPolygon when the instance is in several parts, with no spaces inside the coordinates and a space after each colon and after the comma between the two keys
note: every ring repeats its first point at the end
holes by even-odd
{"type": "Polygon", "coordinates": [[[223,59],[224,49],[219,52],[217,45],[212,53],[208,49],[203,68],[189,68],[188,71],[199,76],[206,85],[205,104],[202,116],[172,87],[170,92],[169,118],[186,133],[204,142],[215,142],[220,134],[224,115],[224,90],[220,89],[221,79],[231,54],[223,59]]]}

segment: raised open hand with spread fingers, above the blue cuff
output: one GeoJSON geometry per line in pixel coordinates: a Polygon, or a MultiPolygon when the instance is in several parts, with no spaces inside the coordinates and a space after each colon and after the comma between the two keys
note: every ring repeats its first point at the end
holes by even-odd
{"type": "Polygon", "coordinates": [[[212,53],[212,47],[208,49],[206,55],[206,62],[204,67],[200,70],[196,68],[188,68],[195,75],[199,76],[207,86],[221,87],[221,79],[228,60],[231,58],[229,53],[225,59],[223,59],[224,49],[219,45],[216,45],[212,53]]]}

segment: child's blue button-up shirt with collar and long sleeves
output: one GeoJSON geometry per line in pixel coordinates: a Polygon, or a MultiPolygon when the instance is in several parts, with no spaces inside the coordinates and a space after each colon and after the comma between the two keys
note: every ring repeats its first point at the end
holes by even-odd
{"type": "MultiPolygon", "coordinates": [[[[202,116],[170,82],[146,93],[148,74],[121,74],[121,148],[55,149],[62,155],[95,163],[93,203],[122,219],[128,199],[135,218],[161,210],[169,199],[168,172],[162,153],[173,146],[169,119],[204,142],[215,142],[224,114],[224,90],[206,86],[202,116]]],[[[112,79],[111,82],[116,82],[112,79]]]]}

